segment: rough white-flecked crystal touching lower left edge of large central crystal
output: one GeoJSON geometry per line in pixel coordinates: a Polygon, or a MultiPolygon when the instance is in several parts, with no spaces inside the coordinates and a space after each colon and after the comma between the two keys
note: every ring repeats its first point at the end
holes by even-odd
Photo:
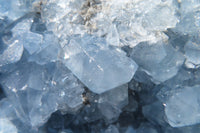
{"type": "Polygon", "coordinates": [[[53,84],[59,91],[59,102],[61,105],[67,104],[70,108],[80,107],[83,103],[83,85],[62,63],[57,64],[57,69],[53,75],[53,84]]]}

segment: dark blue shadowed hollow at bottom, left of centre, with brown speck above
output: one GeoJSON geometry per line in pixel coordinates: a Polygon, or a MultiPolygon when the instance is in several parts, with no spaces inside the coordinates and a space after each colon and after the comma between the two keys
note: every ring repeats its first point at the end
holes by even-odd
{"type": "MultiPolygon", "coordinates": [[[[91,114],[92,109],[97,109],[97,103],[93,100],[98,97],[97,94],[92,93],[87,87],[84,87],[85,91],[82,94],[83,107],[79,110],[79,113],[74,114],[62,114],[60,111],[53,113],[44,125],[46,132],[59,133],[63,129],[73,131],[73,133],[90,133],[91,131],[100,132],[107,127],[105,120],[99,119],[100,112],[96,110],[95,114],[91,114]],[[93,116],[99,115],[98,118],[93,116]],[[91,117],[91,122],[87,122],[85,117],[91,117]],[[93,120],[94,119],[94,120],[93,120]]],[[[67,132],[67,133],[68,133],[67,132]]]]}

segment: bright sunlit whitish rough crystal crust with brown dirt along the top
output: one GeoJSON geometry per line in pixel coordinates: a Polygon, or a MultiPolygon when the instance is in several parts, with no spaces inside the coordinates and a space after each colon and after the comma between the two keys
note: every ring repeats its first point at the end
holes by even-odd
{"type": "Polygon", "coordinates": [[[105,36],[109,45],[133,47],[142,41],[157,42],[165,38],[160,31],[173,28],[178,22],[173,0],[59,0],[56,3],[48,1],[42,17],[58,38],[90,33],[105,36]]]}

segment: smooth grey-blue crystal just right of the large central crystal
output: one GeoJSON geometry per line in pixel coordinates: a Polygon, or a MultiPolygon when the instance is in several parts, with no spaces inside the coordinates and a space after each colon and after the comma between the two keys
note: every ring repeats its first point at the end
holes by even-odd
{"type": "Polygon", "coordinates": [[[183,64],[184,56],[169,44],[140,43],[133,48],[131,57],[152,78],[164,82],[175,76],[183,64]]]}

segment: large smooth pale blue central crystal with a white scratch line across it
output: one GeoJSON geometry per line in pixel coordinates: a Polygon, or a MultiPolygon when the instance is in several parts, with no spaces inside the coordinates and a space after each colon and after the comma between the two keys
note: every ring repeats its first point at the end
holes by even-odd
{"type": "Polygon", "coordinates": [[[89,35],[72,37],[62,56],[65,65],[95,93],[129,82],[138,67],[122,51],[106,46],[104,39],[89,35]]]}

